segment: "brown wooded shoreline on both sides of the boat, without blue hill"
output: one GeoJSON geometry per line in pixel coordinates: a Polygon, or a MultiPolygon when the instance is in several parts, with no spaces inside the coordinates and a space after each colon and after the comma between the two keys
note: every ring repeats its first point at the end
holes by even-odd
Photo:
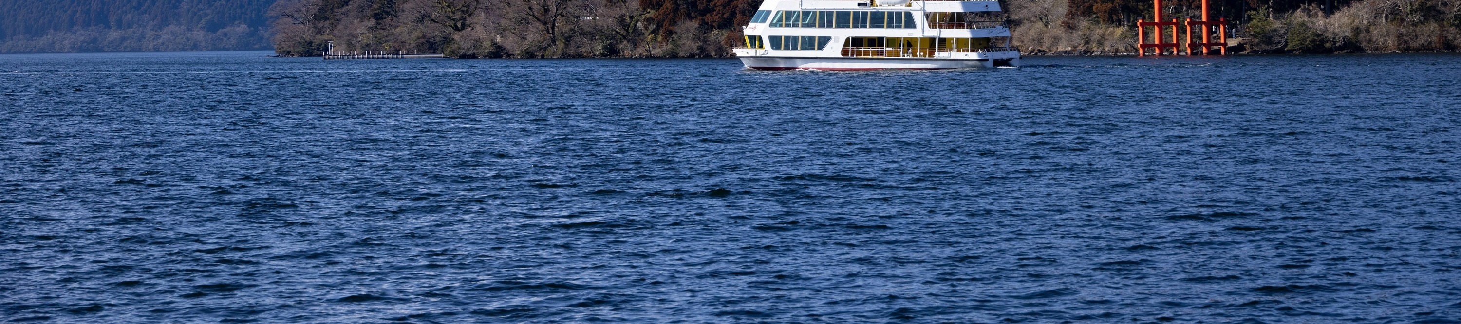
{"type": "MultiPolygon", "coordinates": [[[[1131,54],[1150,0],[1002,0],[1027,54],[1131,54]]],[[[320,55],[418,51],[451,57],[728,57],[760,0],[281,0],[275,48],[320,55]]],[[[1164,1],[1198,18],[1199,0],[1164,1]]],[[[1245,53],[1454,51],[1461,0],[1211,0],[1245,53]]]]}

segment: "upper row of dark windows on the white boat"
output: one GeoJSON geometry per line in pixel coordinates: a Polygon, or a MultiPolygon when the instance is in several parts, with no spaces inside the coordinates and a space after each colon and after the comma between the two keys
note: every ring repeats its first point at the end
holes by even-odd
{"type": "Polygon", "coordinates": [[[830,12],[830,10],[757,10],[751,23],[770,22],[771,28],[869,28],[915,29],[912,12],[830,12]]]}

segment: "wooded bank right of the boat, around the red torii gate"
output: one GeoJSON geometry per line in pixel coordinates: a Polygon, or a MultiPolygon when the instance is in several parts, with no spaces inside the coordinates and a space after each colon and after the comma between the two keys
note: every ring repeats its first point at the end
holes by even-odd
{"type": "MultiPolygon", "coordinates": [[[[1135,53],[1150,0],[1010,0],[1027,53],[1135,53]]],[[[1164,0],[1164,18],[1201,18],[1201,0],[1164,0]]],[[[1211,0],[1248,53],[1455,51],[1461,0],[1211,0]]]]}

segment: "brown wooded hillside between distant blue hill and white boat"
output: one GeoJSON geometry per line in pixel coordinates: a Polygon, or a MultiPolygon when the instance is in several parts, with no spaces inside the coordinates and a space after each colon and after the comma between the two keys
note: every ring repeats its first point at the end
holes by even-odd
{"type": "Polygon", "coordinates": [[[275,48],[453,57],[723,57],[752,0],[281,0],[275,48]]]}

